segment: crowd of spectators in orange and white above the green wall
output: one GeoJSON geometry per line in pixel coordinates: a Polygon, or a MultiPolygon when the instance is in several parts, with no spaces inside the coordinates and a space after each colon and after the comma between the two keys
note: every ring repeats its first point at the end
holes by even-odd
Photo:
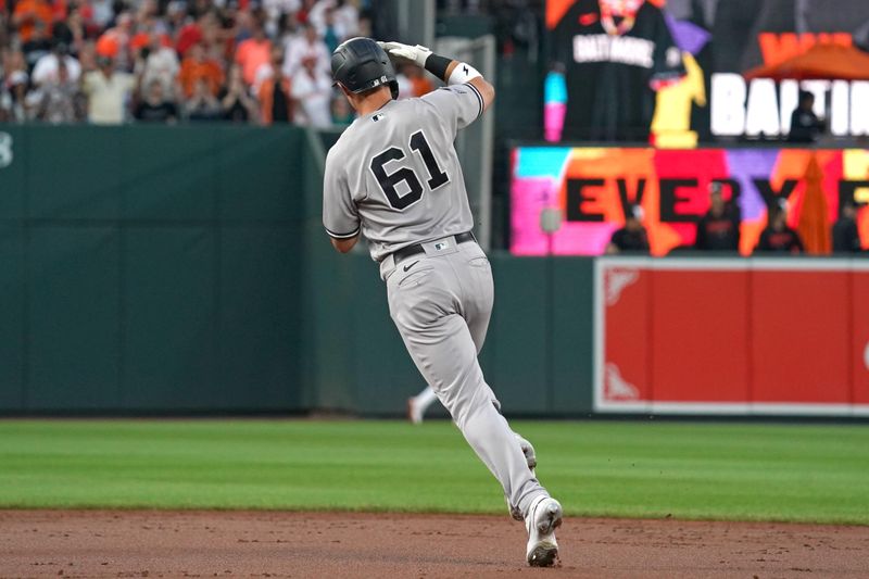
{"type": "MultiPolygon", "coordinates": [[[[330,54],[366,0],[0,0],[0,122],[352,121],[330,54]]],[[[433,87],[400,71],[401,97],[433,87]]]]}

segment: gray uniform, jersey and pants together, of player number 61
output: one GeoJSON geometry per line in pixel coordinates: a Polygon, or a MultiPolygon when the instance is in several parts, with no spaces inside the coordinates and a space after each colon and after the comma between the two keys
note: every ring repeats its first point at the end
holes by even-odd
{"type": "Polygon", "coordinates": [[[492,313],[492,270],[477,243],[454,237],[474,221],[453,141],[482,110],[477,88],[458,85],[357,118],[326,159],[323,223],[335,238],[362,231],[368,239],[411,357],[511,509],[526,515],[547,493],[477,361],[492,313]],[[390,256],[414,243],[424,253],[406,263],[390,256]]]}

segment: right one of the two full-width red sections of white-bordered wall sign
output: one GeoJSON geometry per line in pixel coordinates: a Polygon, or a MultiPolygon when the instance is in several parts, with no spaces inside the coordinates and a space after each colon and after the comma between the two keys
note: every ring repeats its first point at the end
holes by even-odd
{"type": "Polygon", "coordinates": [[[752,276],[753,400],[848,403],[849,272],[752,276]]]}

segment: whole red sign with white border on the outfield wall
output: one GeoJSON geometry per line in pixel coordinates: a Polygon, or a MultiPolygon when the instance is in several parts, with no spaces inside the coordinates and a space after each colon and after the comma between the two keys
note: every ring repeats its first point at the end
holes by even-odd
{"type": "Polygon", "coordinates": [[[599,412],[869,416],[869,261],[601,259],[599,412]]]}

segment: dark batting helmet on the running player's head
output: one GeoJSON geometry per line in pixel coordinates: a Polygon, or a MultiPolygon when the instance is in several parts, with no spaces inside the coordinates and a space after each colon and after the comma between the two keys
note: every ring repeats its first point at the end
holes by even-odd
{"type": "Polygon", "coordinates": [[[399,98],[395,68],[386,51],[370,38],[351,38],[335,49],[332,78],[354,93],[389,85],[392,98],[399,98]]]}

